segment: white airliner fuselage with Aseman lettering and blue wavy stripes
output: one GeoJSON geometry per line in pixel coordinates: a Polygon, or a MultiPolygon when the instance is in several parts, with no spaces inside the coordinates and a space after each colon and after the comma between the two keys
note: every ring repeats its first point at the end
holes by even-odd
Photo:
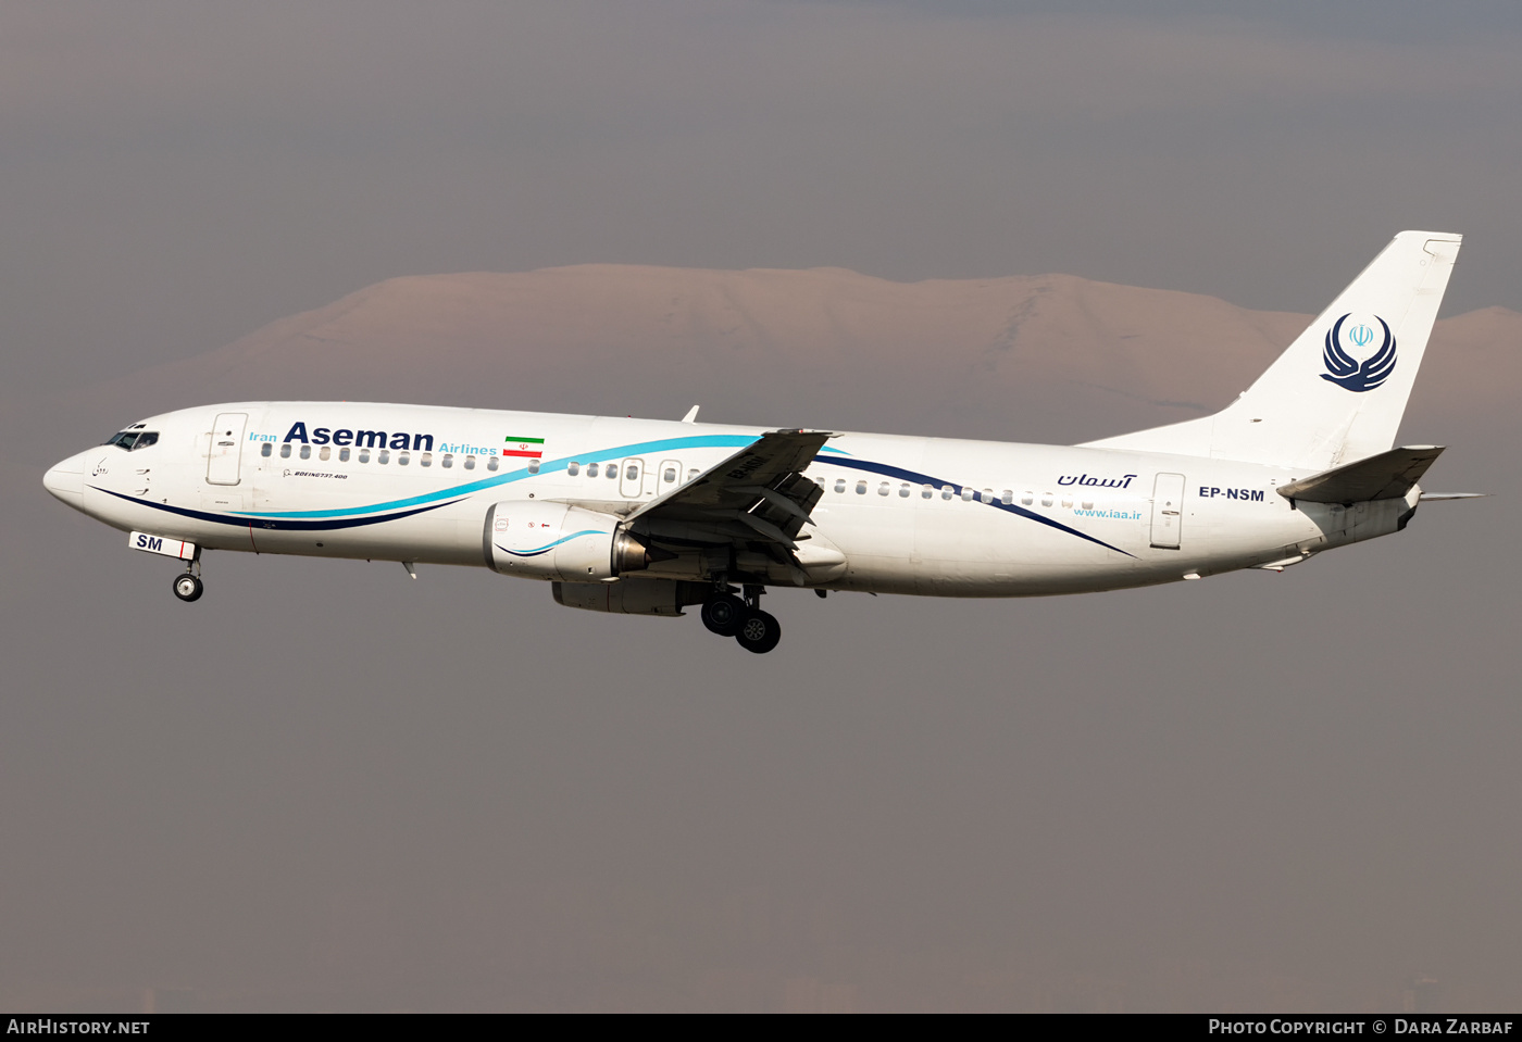
{"type": "MultiPolygon", "coordinates": [[[[184,409],[134,429],[158,438],[72,456],[49,472],[53,494],[123,531],[207,549],[484,567],[493,504],[627,516],[761,435],[335,402],[184,409]]],[[[878,434],[831,438],[805,475],[823,494],[801,543],[814,555],[801,555],[807,572],[793,583],[936,596],[1076,593],[1294,563],[1396,531],[1420,496],[1295,505],[1275,488],[1304,469],[878,434]]]]}

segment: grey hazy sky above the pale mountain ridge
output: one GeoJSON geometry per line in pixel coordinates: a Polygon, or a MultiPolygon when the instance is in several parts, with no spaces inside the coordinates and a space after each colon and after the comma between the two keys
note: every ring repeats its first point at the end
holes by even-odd
{"type": "Polygon", "coordinates": [[[5,376],[589,260],[1315,310],[1428,227],[1470,236],[1450,309],[1522,307],[1513,5],[1215,8],[9,5],[5,376]]]}

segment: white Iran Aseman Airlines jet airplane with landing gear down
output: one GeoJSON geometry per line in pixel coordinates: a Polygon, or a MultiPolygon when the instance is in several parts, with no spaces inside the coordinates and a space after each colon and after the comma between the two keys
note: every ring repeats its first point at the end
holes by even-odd
{"type": "Polygon", "coordinates": [[[1283,569],[1400,531],[1441,446],[1393,447],[1461,237],[1403,231],[1215,415],[1081,446],[350,402],[134,423],[44,476],[181,561],[464,564],[753,653],[767,587],[1044,596],[1283,569]]]}

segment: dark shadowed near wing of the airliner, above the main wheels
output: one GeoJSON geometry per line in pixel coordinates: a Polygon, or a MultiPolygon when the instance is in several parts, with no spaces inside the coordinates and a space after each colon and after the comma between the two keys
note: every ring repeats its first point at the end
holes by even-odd
{"type": "Polygon", "coordinates": [[[829,440],[826,430],[769,430],[693,481],[629,516],[658,545],[731,546],[799,569],[802,532],[823,490],[804,470],[829,440]]]}

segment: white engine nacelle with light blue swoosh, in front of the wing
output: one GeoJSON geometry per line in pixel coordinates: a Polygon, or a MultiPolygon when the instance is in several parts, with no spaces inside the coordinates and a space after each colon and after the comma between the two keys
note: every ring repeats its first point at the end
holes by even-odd
{"type": "Polygon", "coordinates": [[[597,583],[639,572],[650,551],[619,519],[565,504],[493,504],[482,529],[486,563],[504,575],[597,583]]]}

